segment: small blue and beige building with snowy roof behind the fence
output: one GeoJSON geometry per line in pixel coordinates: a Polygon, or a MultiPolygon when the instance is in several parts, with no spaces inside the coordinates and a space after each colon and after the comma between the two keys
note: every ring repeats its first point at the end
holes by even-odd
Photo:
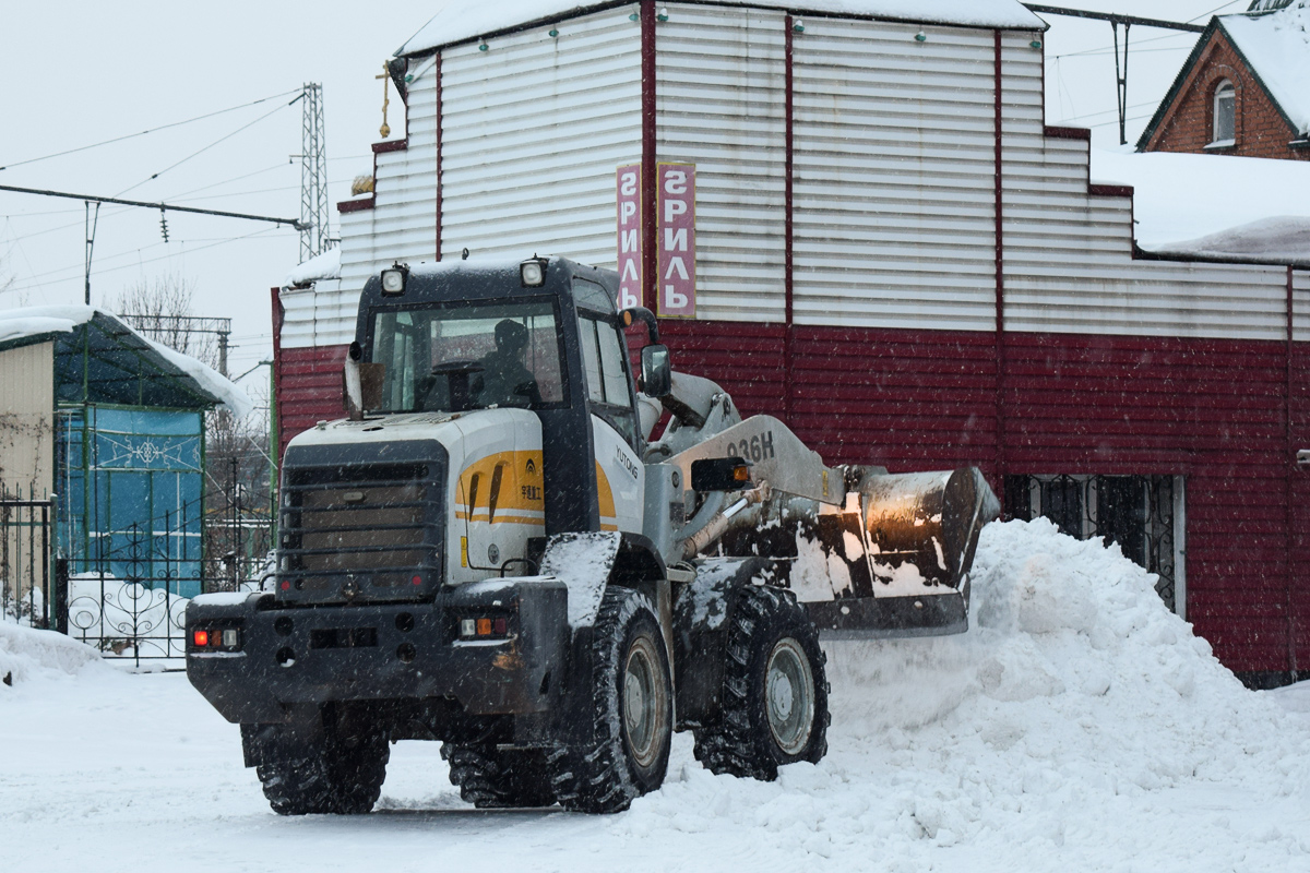
{"type": "Polygon", "coordinates": [[[0,377],[10,420],[29,416],[0,433],[3,448],[30,458],[0,470],[0,484],[55,496],[68,572],[199,594],[204,414],[231,401],[231,383],[90,308],[3,313],[0,377]]]}

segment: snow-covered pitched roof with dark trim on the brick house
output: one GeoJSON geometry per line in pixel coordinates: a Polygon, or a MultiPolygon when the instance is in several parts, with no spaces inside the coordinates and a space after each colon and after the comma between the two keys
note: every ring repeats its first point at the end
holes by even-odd
{"type": "MultiPolygon", "coordinates": [[[[1252,9],[1256,9],[1255,4],[1252,9]]],[[[1306,85],[1310,82],[1310,0],[1290,0],[1281,7],[1271,5],[1263,10],[1210,18],[1138,137],[1137,148],[1144,149],[1150,143],[1174,101],[1182,96],[1192,68],[1220,31],[1241,55],[1288,126],[1298,137],[1310,137],[1310,86],[1306,85]]]]}

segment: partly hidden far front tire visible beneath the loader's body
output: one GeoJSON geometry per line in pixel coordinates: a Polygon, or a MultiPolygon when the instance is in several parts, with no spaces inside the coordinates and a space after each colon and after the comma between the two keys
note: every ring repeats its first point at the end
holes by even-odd
{"type": "Polygon", "coordinates": [[[546,754],[495,746],[441,745],[451,781],[478,809],[550,806],[555,802],[546,754]]]}

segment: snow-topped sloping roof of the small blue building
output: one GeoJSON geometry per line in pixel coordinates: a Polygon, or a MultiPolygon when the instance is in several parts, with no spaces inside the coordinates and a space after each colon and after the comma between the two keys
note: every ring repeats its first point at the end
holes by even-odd
{"type": "MultiPolygon", "coordinates": [[[[233,415],[244,416],[254,403],[240,387],[212,368],[189,355],[161,346],[119,321],[113,313],[93,306],[29,306],[0,310],[0,351],[47,340],[69,339],[83,326],[92,366],[85,380],[122,382],[126,377],[141,380],[155,398],[151,406],[178,404],[224,406],[233,415]]],[[[80,363],[73,361],[80,366],[80,363]]],[[[80,370],[79,370],[80,373],[80,370]]]]}

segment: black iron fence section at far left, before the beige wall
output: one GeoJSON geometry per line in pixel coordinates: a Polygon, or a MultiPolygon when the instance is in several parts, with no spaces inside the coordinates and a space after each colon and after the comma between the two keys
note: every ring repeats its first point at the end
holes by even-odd
{"type": "Polygon", "coordinates": [[[0,500],[0,614],[31,627],[56,624],[51,598],[55,504],[0,500]]]}

